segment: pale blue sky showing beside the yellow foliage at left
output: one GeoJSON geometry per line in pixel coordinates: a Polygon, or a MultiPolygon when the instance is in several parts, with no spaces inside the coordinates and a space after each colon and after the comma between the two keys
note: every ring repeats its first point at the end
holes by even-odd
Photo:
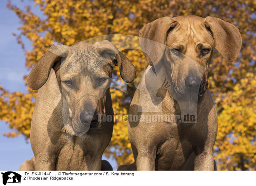
{"type": "MultiPolygon", "coordinates": [[[[32,6],[32,10],[39,15],[38,7],[34,7],[32,0],[13,1],[20,8],[26,5],[32,6]]],[[[10,92],[20,91],[26,93],[23,76],[28,75],[29,71],[25,68],[25,55],[20,44],[17,44],[12,33],[19,33],[17,30],[21,26],[19,18],[9,9],[6,9],[7,0],[0,1],[0,84],[10,92]]],[[[24,39],[26,50],[31,49],[28,40],[24,39]]],[[[6,122],[0,121],[0,170],[18,170],[20,165],[34,154],[29,140],[25,137],[7,138],[4,132],[11,132],[6,122]]],[[[102,159],[106,159],[103,157],[102,159]]],[[[109,162],[116,167],[116,161],[110,159],[109,162]]]]}

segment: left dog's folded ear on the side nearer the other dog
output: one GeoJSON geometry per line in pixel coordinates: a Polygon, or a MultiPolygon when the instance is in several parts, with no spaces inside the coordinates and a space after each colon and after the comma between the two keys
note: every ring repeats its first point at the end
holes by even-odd
{"type": "Polygon", "coordinates": [[[108,40],[96,42],[96,50],[105,58],[110,59],[119,67],[120,75],[126,83],[131,83],[136,74],[136,68],[131,61],[108,40]]]}

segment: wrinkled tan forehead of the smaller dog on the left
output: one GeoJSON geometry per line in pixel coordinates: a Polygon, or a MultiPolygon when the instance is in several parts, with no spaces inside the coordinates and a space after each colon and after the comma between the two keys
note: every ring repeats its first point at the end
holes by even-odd
{"type": "Polygon", "coordinates": [[[95,73],[102,71],[108,61],[99,55],[95,44],[79,42],[70,46],[66,58],[63,58],[61,70],[63,73],[81,72],[95,73]]]}

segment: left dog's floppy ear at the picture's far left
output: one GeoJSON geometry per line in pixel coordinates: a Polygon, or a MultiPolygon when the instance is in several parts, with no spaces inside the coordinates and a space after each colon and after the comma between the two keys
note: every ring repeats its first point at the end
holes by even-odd
{"type": "Polygon", "coordinates": [[[68,46],[52,45],[35,64],[27,77],[27,83],[32,90],[38,90],[48,79],[51,69],[57,70],[61,64],[61,57],[66,56],[68,46]]]}

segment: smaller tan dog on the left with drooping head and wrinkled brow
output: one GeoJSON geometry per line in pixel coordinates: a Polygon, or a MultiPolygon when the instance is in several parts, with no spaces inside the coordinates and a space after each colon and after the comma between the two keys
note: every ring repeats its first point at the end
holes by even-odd
{"type": "Polygon", "coordinates": [[[113,121],[102,114],[113,116],[113,64],[124,81],[133,81],[135,67],[109,41],[47,50],[27,78],[31,89],[39,89],[30,133],[35,159],[20,170],[112,170],[102,154],[113,121]]]}

